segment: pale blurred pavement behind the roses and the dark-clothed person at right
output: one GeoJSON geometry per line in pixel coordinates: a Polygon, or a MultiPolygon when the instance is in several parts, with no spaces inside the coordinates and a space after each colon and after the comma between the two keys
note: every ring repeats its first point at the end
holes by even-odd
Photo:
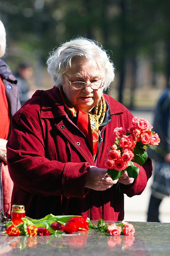
{"type": "MultiPolygon", "coordinates": [[[[131,111],[133,116],[146,118],[153,124],[153,113],[150,111],[131,111]]],[[[128,197],[125,195],[125,221],[147,221],[147,210],[149,206],[152,184],[151,177],[143,193],[139,196],[128,197]]],[[[170,222],[170,197],[164,197],[159,207],[161,222],[170,222]]]]}

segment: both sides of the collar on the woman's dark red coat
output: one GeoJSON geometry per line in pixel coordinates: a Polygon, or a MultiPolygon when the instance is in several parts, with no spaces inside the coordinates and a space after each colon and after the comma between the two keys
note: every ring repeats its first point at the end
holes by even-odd
{"type": "MultiPolygon", "coordinates": [[[[55,86],[46,91],[37,90],[33,96],[41,96],[41,118],[57,118],[59,116],[67,115],[59,89],[55,86]]],[[[110,106],[110,115],[125,112],[123,105],[120,102],[109,95],[104,94],[104,96],[110,106]]]]}

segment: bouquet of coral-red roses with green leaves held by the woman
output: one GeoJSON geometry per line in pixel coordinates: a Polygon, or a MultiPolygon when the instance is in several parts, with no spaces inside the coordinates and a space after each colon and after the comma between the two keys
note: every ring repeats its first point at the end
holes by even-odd
{"type": "Polygon", "coordinates": [[[158,134],[152,128],[145,118],[135,117],[128,131],[122,127],[114,129],[115,142],[108,149],[105,158],[108,174],[113,180],[119,178],[122,171],[127,171],[129,177],[137,178],[139,167],[133,162],[144,164],[147,160],[146,147],[160,142],[158,134]]]}

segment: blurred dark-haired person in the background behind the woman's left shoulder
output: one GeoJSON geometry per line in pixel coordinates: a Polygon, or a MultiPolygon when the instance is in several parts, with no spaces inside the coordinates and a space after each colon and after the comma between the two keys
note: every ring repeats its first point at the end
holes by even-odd
{"type": "Polygon", "coordinates": [[[24,104],[28,99],[31,98],[34,91],[30,90],[27,80],[33,76],[33,68],[29,62],[22,62],[17,68],[15,74],[17,78],[17,84],[20,86],[20,102],[24,104]]]}

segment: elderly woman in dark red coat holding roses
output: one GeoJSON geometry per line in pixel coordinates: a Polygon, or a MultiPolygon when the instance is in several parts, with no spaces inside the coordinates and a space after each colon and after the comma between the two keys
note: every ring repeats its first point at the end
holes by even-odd
{"type": "Polygon", "coordinates": [[[101,46],[78,38],[59,46],[47,64],[54,87],[35,92],[13,116],[7,144],[12,204],[24,204],[33,218],[52,213],[122,220],[123,193],[141,194],[152,164],[148,159],[139,167],[136,179],[125,172],[113,181],[107,174],[113,130],[129,128],[133,118],[103,94],[114,79],[113,63],[101,46]]]}

